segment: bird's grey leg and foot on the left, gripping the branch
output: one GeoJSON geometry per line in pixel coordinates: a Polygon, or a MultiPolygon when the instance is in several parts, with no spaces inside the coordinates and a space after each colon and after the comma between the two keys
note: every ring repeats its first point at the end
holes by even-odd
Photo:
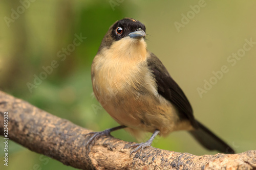
{"type": "MultiPolygon", "coordinates": [[[[116,131],[116,130],[119,130],[119,129],[122,129],[122,128],[126,128],[126,126],[121,125],[121,126],[117,126],[117,127],[114,127],[114,128],[106,129],[106,130],[104,130],[104,131],[100,131],[100,132],[90,132],[90,133],[86,134],[86,136],[93,134],[93,136],[92,136],[92,137],[87,141],[87,143],[86,143],[86,147],[88,147],[89,152],[90,152],[90,144],[92,144],[92,142],[93,142],[94,140],[96,140],[96,139],[98,139],[100,136],[104,136],[104,135],[106,135],[106,136],[111,136],[111,134],[110,134],[111,132],[116,131]]],[[[93,143],[93,144],[94,144],[94,143],[93,143]]]]}

